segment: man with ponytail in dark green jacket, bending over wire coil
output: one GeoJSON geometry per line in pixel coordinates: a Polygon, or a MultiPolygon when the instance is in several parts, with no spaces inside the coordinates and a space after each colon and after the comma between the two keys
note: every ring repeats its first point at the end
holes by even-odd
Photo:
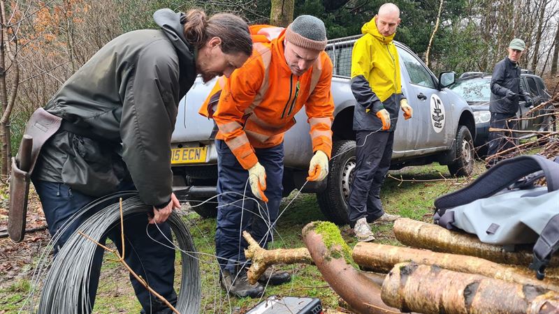
{"type": "MultiPolygon", "coordinates": [[[[43,145],[32,180],[50,234],[61,233],[55,253],[92,215],[83,213],[85,205],[103,195],[137,189],[150,212],[124,220],[124,259],[175,304],[175,251],[163,244],[172,239],[166,220],[180,208],[170,169],[177,106],[196,75],[208,81],[240,68],[252,54],[252,38],[246,22],[231,14],[208,18],[196,9],[187,14],[162,9],[154,13],[154,22],[158,29],[111,40],[49,100],[45,110],[62,123],[43,145]],[[68,225],[74,216],[78,221],[68,225]]],[[[114,230],[108,237],[121,249],[119,228],[114,230]]],[[[73,313],[92,310],[102,256],[99,248],[89,274],[89,300],[73,304],[73,313]]],[[[132,276],[131,283],[142,313],[170,313],[132,276]]]]}

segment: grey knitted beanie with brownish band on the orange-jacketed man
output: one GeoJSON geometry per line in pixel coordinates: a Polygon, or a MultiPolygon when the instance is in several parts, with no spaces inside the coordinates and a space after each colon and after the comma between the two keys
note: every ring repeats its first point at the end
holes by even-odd
{"type": "Polygon", "coordinates": [[[298,16],[285,31],[285,38],[299,47],[322,51],[326,48],[326,27],[318,17],[298,16]]]}

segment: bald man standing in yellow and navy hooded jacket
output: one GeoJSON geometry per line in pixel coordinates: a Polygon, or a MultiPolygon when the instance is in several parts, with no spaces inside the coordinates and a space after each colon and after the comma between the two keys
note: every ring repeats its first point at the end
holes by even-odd
{"type": "Polygon", "coordinates": [[[405,119],[412,107],[402,94],[400,63],[393,43],[400,24],[400,9],[384,3],[379,13],[361,28],[351,55],[351,91],[357,100],[354,110],[356,168],[349,192],[349,220],[359,241],[372,241],[368,223],[393,221],[384,213],[380,188],[390,167],[394,130],[399,108],[405,119]]]}

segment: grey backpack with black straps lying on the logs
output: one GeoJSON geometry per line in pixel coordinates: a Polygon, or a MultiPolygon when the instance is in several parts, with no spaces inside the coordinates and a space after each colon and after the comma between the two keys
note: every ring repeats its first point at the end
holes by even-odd
{"type": "Polygon", "coordinates": [[[435,200],[435,223],[488,244],[534,244],[530,269],[543,279],[559,248],[559,157],[503,160],[472,184],[435,200]],[[547,186],[535,182],[546,178],[547,186]]]}

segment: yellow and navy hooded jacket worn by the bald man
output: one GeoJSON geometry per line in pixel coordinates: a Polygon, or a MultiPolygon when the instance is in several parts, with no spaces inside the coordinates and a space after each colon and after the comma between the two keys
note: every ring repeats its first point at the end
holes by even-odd
{"type": "Polygon", "coordinates": [[[379,130],[382,121],[376,116],[386,109],[395,129],[402,95],[400,61],[393,43],[394,34],[382,36],[373,17],[361,28],[364,36],[356,40],[351,53],[351,91],[357,103],[354,130],[379,130]],[[369,112],[366,109],[370,110],[369,112]]]}

